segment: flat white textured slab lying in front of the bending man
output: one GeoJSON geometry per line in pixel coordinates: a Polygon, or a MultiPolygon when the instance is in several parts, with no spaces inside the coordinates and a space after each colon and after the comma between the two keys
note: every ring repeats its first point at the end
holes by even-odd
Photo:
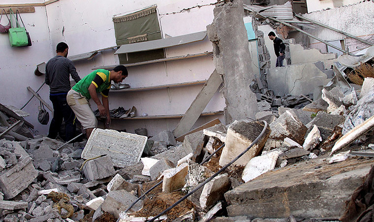
{"type": "Polygon", "coordinates": [[[137,134],[95,128],[82,152],[82,158],[107,154],[116,167],[125,167],[140,160],[147,139],[137,134]]]}

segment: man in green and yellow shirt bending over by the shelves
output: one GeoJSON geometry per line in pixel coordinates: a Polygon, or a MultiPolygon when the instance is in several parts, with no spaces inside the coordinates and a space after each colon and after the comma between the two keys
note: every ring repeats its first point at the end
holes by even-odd
{"type": "Polygon", "coordinates": [[[112,80],[115,83],[122,82],[127,77],[127,69],[123,65],[116,66],[112,71],[98,69],[88,74],[67,93],[67,102],[73,109],[83,129],[86,130],[87,139],[94,128],[97,127],[97,119],[91,109],[89,100],[92,98],[97,105],[100,116],[106,116],[105,126],[110,125],[109,114],[109,89],[112,80]],[[101,101],[97,97],[101,93],[101,101]]]}

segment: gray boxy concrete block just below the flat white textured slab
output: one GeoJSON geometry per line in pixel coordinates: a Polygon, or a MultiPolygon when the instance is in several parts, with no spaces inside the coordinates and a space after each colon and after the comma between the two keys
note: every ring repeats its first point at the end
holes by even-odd
{"type": "Polygon", "coordinates": [[[115,173],[113,162],[109,156],[87,161],[83,166],[83,171],[89,181],[102,179],[115,173]]]}

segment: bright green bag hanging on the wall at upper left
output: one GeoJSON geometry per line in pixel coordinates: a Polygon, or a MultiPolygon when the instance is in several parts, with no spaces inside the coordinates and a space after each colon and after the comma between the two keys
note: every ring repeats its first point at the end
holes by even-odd
{"type": "Polygon", "coordinates": [[[26,28],[20,27],[21,25],[18,23],[18,20],[14,18],[13,11],[10,11],[10,24],[11,28],[8,30],[9,34],[9,42],[11,47],[21,47],[27,46],[29,44],[29,39],[26,34],[26,28]],[[16,25],[13,24],[13,19],[16,20],[16,25]]]}

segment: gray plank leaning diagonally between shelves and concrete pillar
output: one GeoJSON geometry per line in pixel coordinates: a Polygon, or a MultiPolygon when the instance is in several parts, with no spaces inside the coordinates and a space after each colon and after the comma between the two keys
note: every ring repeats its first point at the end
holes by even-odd
{"type": "Polygon", "coordinates": [[[185,115],[174,129],[173,133],[175,137],[180,137],[191,129],[193,124],[195,124],[196,120],[207,106],[208,102],[218,90],[221,83],[221,76],[216,70],[214,70],[207,83],[205,83],[199,94],[196,96],[196,99],[193,100],[185,115]]]}

